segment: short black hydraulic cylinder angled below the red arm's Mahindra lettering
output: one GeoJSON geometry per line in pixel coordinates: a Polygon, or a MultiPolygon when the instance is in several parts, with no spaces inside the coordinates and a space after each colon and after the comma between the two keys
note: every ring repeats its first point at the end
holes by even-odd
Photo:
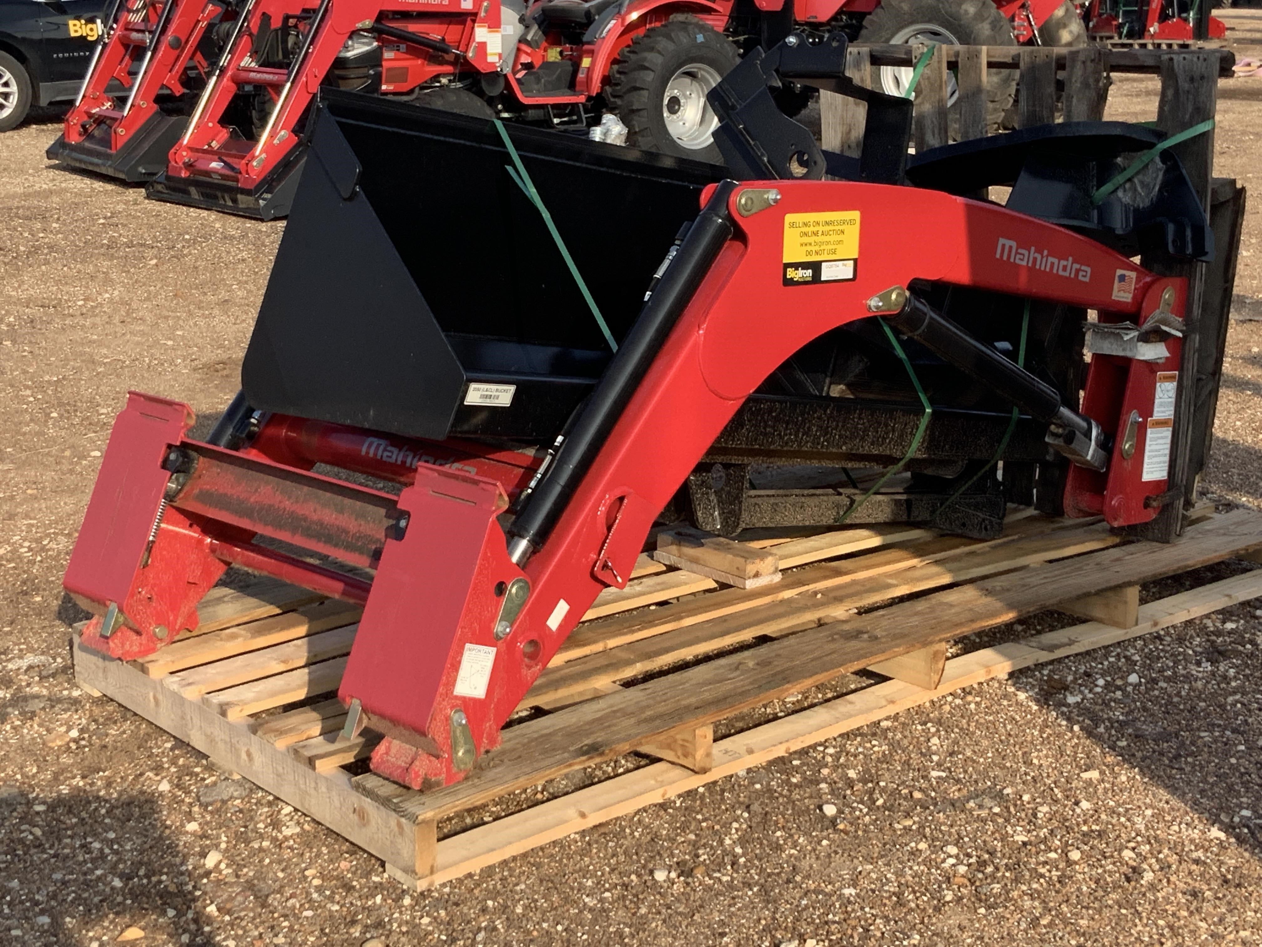
{"type": "Polygon", "coordinates": [[[1058,419],[1061,400],[1055,388],[973,338],[914,293],[907,293],[907,302],[899,312],[881,314],[899,332],[998,391],[1026,414],[1049,423],[1058,419]]]}

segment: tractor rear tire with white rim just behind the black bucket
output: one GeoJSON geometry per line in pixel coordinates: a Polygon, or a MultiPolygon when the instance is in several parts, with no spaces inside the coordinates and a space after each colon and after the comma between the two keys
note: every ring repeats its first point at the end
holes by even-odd
{"type": "Polygon", "coordinates": [[[678,14],[618,53],[604,97],[627,126],[628,145],[722,164],[714,144],[718,117],[705,93],[740,61],[732,40],[678,14]]]}

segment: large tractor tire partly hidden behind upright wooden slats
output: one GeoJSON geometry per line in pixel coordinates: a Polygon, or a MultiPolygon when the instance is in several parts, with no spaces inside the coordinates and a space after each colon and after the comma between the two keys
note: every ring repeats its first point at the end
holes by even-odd
{"type": "MultiPolygon", "coordinates": [[[[1012,24],[992,0],[881,0],[859,30],[863,43],[943,43],[945,45],[1016,45],[1012,24]]],[[[876,71],[878,91],[902,95],[911,69],[882,67],[876,71]]],[[[948,78],[948,104],[953,130],[959,122],[954,77],[948,78]]],[[[986,80],[986,120],[1000,128],[1017,90],[1016,69],[991,69],[986,80]]]]}

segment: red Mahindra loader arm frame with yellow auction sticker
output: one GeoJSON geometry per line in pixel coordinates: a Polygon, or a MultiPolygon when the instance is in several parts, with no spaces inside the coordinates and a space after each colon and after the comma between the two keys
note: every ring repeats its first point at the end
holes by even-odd
{"type": "MultiPolygon", "coordinates": [[[[363,200],[338,194],[324,174],[305,176],[304,188],[363,200]]],[[[80,601],[111,602],[83,640],[119,657],[153,650],[196,626],[197,601],[230,563],[366,600],[339,696],[360,708],[360,726],[386,735],[374,768],[413,787],[458,780],[498,742],[501,726],[597,595],[626,585],[654,518],[743,400],[810,340],[873,318],[875,294],[917,280],[1137,321],[1159,307],[1181,314],[1186,285],[1054,225],[944,193],[810,181],[712,186],[654,294],[658,312],[650,301],[632,331],[664,342],[654,348],[627,340],[607,369],[606,381],[622,378],[630,399],[604,403],[599,389],[591,396],[588,410],[606,413],[608,433],[577,470],[572,492],[553,497],[554,516],[529,537],[533,554],[520,553],[520,540],[506,542],[498,480],[418,465],[414,482],[394,497],[191,442],[186,405],[134,395],[111,436],[67,571],[67,588],[80,601]],[[772,189],[775,211],[769,203],[742,211],[742,196],[772,189]],[[785,259],[786,221],[819,215],[857,231],[853,277],[798,284],[785,259]],[[911,218],[921,222],[916,254],[906,251],[911,218]],[[1021,261],[1005,253],[1010,244],[1031,253],[1021,261]],[[1131,274],[1126,299],[1117,292],[1121,273],[1131,274]],[[769,323],[767,312],[781,317],[769,323]],[[678,410],[681,404],[688,409],[678,410]],[[370,585],[312,566],[252,535],[375,568],[375,577],[370,585]],[[445,540],[435,544],[435,535],[445,540]],[[524,601],[505,617],[505,593],[521,583],[524,601]],[[159,621],[163,615],[172,617],[159,621]],[[425,616],[419,625],[418,616],[425,616]]],[[[1093,379],[1106,361],[1093,362],[1093,379]]],[[[1177,352],[1171,361],[1177,365],[1177,352]]],[[[1123,393],[1089,380],[1095,388],[1104,395],[1095,417],[1111,432],[1132,410],[1153,413],[1151,386],[1123,393]]],[[[1106,514],[1119,523],[1151,519],[1157,509],[1145,501],[1161,495],[1165,481],[1141,480],[1142,443],[1132,457],[1118,450],[1108,490],[1123,508],[1106,514]]],[[[1080,503],[1099,489],[1083,481],[1080,503]]],[[[531,495],[510,534],[546,496],[531,495]]]]}

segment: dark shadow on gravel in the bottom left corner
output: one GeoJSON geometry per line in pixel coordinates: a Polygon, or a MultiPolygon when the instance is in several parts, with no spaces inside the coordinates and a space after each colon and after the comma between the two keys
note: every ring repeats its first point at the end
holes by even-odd
{"type": "Polygon", "coordinates": [[[88,947],[140,924],[146,944],[204,942],[188,866],[156,809],[149,795],[0,785],[0,938],[88,947]]]}

